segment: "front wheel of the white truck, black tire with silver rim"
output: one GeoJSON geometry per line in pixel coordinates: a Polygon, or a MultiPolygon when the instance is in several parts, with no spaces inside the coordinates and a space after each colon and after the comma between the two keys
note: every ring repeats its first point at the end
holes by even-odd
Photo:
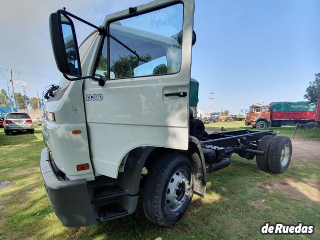
{"type": "Polygon", "coordinates": [[[148,169],[142,204],[144,213],[151,222],[160,226],[172,226],[182,217],[193,194],[191,169],[190,159],[176,152],[158,157],[148,169]]]}

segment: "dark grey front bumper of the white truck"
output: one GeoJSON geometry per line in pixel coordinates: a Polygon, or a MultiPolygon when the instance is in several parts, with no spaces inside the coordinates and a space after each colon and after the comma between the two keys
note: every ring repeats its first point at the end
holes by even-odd
{"type": "Polygon", "coordinates": [[[51,167],[47,148],[42,149],[40,168],[46,196],[64,226],[83,226],[96,222],[86,179],[58,179],[51,167]]]}

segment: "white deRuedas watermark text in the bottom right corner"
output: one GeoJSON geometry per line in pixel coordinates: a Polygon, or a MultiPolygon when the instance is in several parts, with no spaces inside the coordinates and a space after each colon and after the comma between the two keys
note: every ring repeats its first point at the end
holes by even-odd
{"type": "Polygon", "coordinates": [[[264,222],[260,227],[261,234],[313,234],[314,225],[298,222],[297,224],[284,224],[282,222],[264,222]]]}

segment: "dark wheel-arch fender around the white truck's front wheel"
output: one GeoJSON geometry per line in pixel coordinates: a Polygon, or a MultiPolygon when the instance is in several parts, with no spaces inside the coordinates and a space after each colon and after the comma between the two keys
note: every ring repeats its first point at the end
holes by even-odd
{"type": "MultiPolygon", "coordinates": [[[[161,154],[161,151],[174,150],[154,146],[140,146],[131,150],[127,156],[123,172],[118,173],[118,184],[127,189],[127,194],[135,195],[139,191],[141,172],[145,165],[151,163],[148,157],[152,153],[161,154]],[[160,152],[159,152],[160,151],[160,152]]],[[[194,171],[194,193],[199,196],[205,194],[206,171],[205,162],[200,142],[194,136],[189,136],[187,150],[178,150],[190,157],[194,171]]],[[[151,159],[150,159],[151,160],[151,159]]]]}

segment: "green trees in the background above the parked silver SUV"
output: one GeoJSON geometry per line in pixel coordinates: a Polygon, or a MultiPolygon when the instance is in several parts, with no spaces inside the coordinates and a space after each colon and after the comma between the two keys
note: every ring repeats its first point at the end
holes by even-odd
{"type": "MultiPolygon", "coordinates": [[[[14,93],[14,98],[16,102],[16,107],[24,109],[25,107],[25,98],[20,92],[14,93]]],[[[38,102],[41,103],[41,99],[37,97],[28,97],[26,96],[26,102],[32,109],[38,109],[38,102]]],[[[0,90],[0,107],[9,107],[10,101],[7,92],[4,89],[0,90]]]]}

